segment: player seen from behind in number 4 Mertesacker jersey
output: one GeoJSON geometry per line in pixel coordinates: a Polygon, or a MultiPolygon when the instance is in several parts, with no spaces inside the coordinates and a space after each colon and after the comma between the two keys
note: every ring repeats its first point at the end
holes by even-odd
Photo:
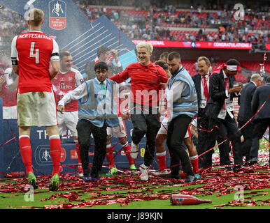
{"type": "Polygon", "coordinates": [[[58,45],[41,31],[43,11],[29,11],[29,32],[15,36],[11,45],[13,71],[19,75],[17,87],[17,124],[19,127],[20,153],[26,167],[28,182],[38,187],[31,163],[30,127],[45,126],[50,137],[52,180],[49,189],[59,187],[61,144],[57,128],[55,95],[51,79],[59,71],[58,45]],[[50,67],[51,62],[51,68],[50,67]]]}

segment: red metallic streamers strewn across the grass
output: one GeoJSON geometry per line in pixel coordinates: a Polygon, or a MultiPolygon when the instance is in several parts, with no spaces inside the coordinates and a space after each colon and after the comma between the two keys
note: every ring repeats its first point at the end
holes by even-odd
{"type": "MultiPolygon", "coordinates": [[[[236,192],[234,190],[236,185],[242,185],[245,191],[257,191],[245,193],[245,195],[250,194],[251,197],[246,198],[250,199],[250,201],[229,201],[229,203],[214,206],[215,208],[222,208],[224,206],[234,207],[269,205],[269,199],[255,199],[255,197],[259,195],[268,195],[268,192],[263,193],[262,189],[270,187],[269,166],[256,165],[255,167],[256,170],[252,173],[234,173],[233,171],[225,171],[225,169],[212,169],[211,171],[204,172],[201,175],[201,178],[195,183],[185,183],[184,179],[164,179],[155,176],[150,176],[149,180],[143,181],[140,180],[138,174],[115,175],[113,177],[106,177],[104,180],[95,180],[91,183],[85,183],[82,178],[78,178],[77,176],[73,176],[71,174],[61,174],[60,180],[62,180],[62,183],[59,185],[59,190],[55,194],[50,195],[50,197],[41,199],[41,201],[55,201],[55,204],[44,205],[43,207],[33,206],[30,208],[70,209],[92,207],[96,205],[108,206],[113,203],[119,203],[120,206],[125,206],[134,201],[169,199],[171,194],[177,193],[191,194],[194,196],[216,194],[217,197],[220,197],[225,194],[236,192]],[[180,190],[168,190],[168,187],[185,185],[197,185],[197,187],[183,188],[180,190]],[[162,187],[164,190],[162,190],[162,187]],[[80,197],[81,194],[86,194],[86,198],[80,197]]],[[[0,194],[25,193],[24,187],[27,185],[27,179],[12,179],[13,183],[10,183],[10,181],[10,179],[0,181],[0,194]]],[[[38,183],[39,188],[46,189],[46,191],[36,190],[34,193],[46,194],[48,192],[50,176],[39,176],[38,183]]],[[[6,197],[2,196],[2,198],[6,197]]],[[[13,207],[8,206],[7,208],[13,207]]]]}

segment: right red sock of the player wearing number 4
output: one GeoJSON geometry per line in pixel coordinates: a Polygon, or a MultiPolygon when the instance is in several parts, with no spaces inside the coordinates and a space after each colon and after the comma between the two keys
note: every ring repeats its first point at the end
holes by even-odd
{"type": "Polygon", "coordinates": [[[50,137],[50,157],[52,157],[52,176],[60,174],[59,167],[61,162],[61,142],[59,135],[50,137]]]}

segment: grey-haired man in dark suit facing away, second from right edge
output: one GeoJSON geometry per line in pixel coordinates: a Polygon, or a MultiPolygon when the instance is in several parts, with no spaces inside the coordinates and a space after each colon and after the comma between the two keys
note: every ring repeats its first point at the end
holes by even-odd
{"type": "Polygon", "coordinates": [[[250,82],[243,86],[241,95],[238,98],[239,113],[237,121],[239,123],[239,128],[243,134],[243,144],[241,145],[241,153],[243,156],[246,156],[246,161],[250,160],[249,153],[250,150],[253,150],[252,147],[257,145],[257,137],[253,133],[253,124],[250,122],[246,124],[250,118],[253,116],[251,112],[251,100],[253,99],[253,94],[257,86],[261,86],[262,77],[259,74],[254,74],[250,78],[250,82]]]}

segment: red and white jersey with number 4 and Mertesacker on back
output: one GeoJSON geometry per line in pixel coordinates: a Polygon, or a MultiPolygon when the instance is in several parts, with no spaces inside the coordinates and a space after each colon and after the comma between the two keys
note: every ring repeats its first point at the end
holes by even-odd
{"type": "Polygon", "coordinates": [[[56,41],[41,31],[29,31],[13,38],[12,65],[19,66],[20,93],[52,91],[50,61],[59,61],[56,41]]]}

